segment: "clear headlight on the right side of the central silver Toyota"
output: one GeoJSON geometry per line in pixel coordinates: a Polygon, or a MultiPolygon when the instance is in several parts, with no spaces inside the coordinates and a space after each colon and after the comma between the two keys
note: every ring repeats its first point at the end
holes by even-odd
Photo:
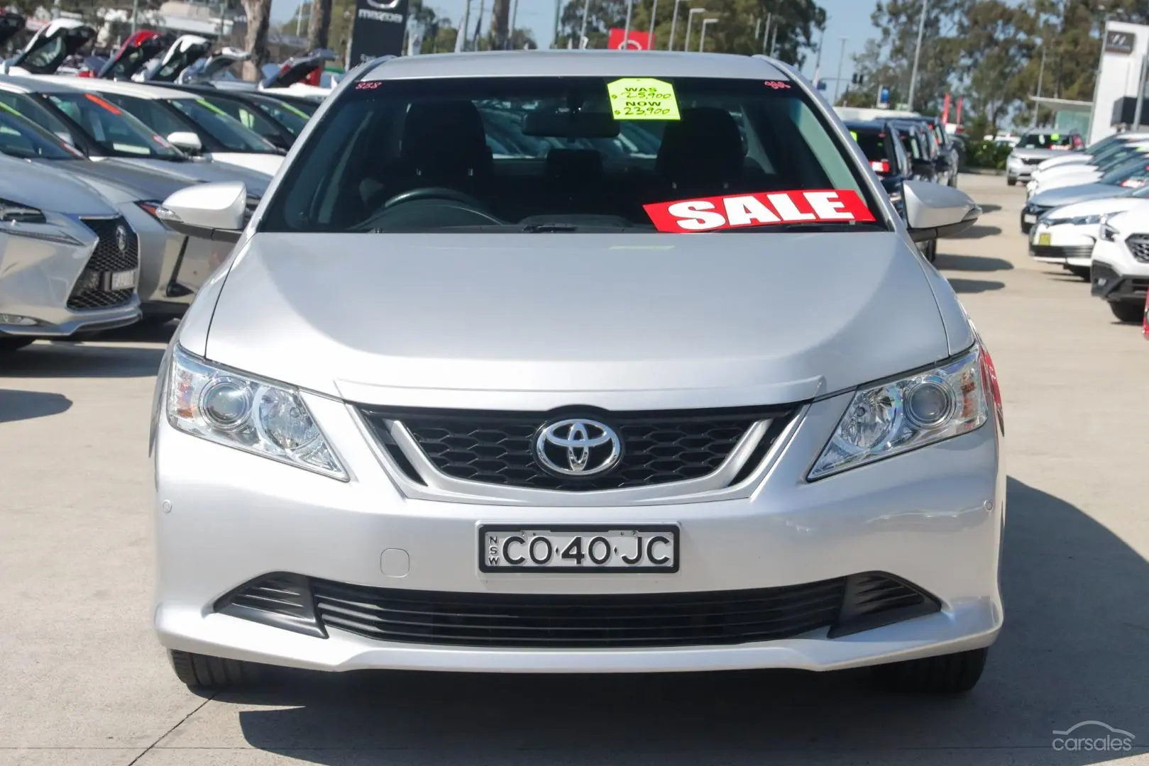
{"type": "Polygon", "coordinates": [[[859,389],[809,478],[820,479],[979,428],[989,419],[988,364],[978,345],[944,366],[859,389]]]}

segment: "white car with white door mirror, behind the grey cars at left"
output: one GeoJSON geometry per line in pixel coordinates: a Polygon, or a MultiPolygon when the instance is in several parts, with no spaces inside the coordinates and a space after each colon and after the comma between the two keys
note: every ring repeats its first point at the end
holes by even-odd
{"type": "Polygon", "coordinates": [[[84,91],[114,108],[123,109],[163,136],[175,147],[202,156],[275,176],[284,153],[241,122],[213,107],[195,93],[140,83],[85,77],[45,77],[84,91]]]}

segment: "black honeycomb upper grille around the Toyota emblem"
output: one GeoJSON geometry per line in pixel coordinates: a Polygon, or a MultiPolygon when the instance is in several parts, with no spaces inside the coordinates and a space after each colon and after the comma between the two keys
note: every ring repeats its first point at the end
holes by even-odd
{"type": "MultiPolygon", "coordinates": [[[[401,423],[427,459],[448,477],[563,492],[645,487],[709,475],[755,423],[772,420],[763,436],[772,443],[792,413],[789,409],[739,409],[602,416],[622,441],[622,458],[603,474],[568,478],[548,473],[534,455],[539,428],[554,420],[554,413],[364,410],[381,446],[416,481],[422,478],[412,475],[414,467],[395,444],[388,421],[401,423]]],[[[758,455],[759,461],[764,452],[758,455]]]]}

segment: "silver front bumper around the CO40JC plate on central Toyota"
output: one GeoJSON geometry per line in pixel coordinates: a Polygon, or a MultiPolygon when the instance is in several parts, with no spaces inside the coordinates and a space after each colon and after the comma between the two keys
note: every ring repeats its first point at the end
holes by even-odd
{"type": "Polygon", "coordinates": [[[170,649],[303,668],[502,672],[832,670],[990,644],[1005,505],[993,421],[816,482],[803,477],[851,395],[812,404],[748,497],[622,506],[522,506],[402,495],[350,409],[304,395],[350,481],[155,424],[155,629],[170,649]],[[478,524],[678,524],[677,573],[487,574],[478,524]],[[386,552],[385,552],[386,551],[386,552]],[[215,611],[236,588],[288,572],[369,588],[450,594],[697,594],[886,572],[940,611],[830,637],[825,628],[735,645],[538,649],[399,643],[327,626],[306,635],[215,611]],[[385,573],[386,572],[386,573],[385,573]]]}

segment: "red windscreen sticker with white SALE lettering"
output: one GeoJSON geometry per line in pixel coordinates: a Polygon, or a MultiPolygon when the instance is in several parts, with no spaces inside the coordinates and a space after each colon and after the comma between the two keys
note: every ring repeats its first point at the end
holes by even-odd
{"type": "Polygon", "coordinates": [[[642,206],[655,229],[685,233],[791,223],[874,220],[851,189],[758,192],[642,206]]]}

